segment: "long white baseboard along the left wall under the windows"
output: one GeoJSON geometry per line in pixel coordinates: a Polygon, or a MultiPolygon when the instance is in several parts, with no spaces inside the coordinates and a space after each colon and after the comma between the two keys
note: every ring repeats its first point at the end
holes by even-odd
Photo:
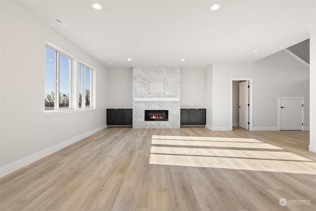
{"type": "Polygon", "coordinates": [[[6,165],[6,166],[0,168],[0,177],[3,177],[9,173],[12,173],[12,172],[18,170],[18,169],[21,169],[29,164],[32,164],[32,163],[40,160],[41,158],[44,158],[44,157],[46,157],[54,152],[57,152],[58,150],[61,150],[61,149],[65,148],[73,143],[76,143],[77,141],[79,141],[85,137],[88,137],[89,135],[92,135],[93,133],[96,133],[104,128],[107,128],[107,126],[106,125],[101,126],[101,127],[95,128],[93,130],[90,130],[88,132],[82,133],[82,134],[77,135],[76,137],[70,138],[62,143],[56,144],[52,147],[44,149],[40,152],[37,152],[33,155],[30,155],[26,158],[23,158],[19,161],[16,161],[14,163],[6,165]]]}

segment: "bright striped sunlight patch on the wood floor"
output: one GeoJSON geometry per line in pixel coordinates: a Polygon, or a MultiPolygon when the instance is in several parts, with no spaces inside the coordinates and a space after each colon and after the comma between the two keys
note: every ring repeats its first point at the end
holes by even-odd
{"type": "Polygon", "coordinates": [[[314,160],[256,139],[228,140],[232,138],[153,135],[149,164],[316,174],[314,160]]]}

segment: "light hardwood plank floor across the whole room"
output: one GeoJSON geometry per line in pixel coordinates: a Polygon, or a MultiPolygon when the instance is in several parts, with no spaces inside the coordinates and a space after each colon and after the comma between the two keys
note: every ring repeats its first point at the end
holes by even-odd
{"type": "Polygon", "coordinates": [[[0,210],[315,211],[308,145],[309,131],[106,128],[1,178],[0,210]]]}

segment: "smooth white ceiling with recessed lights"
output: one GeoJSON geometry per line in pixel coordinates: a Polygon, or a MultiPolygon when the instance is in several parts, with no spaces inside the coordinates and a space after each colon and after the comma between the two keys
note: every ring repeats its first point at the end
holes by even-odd
{"type": "Polygon", "coordinates": [[[316,0],[18,2],[110,69],[254,62],[308,39],[316,28],[316,0]],[[213,3],[221,9],[210,11],[213,3]]]}

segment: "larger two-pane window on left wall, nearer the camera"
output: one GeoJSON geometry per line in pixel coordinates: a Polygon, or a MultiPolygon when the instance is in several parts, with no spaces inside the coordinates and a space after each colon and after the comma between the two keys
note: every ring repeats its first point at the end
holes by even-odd
{"type": "Polygon", "coordinates": [[[45,48],[45,111],[70,108],[71,59],[45,48]]]}

